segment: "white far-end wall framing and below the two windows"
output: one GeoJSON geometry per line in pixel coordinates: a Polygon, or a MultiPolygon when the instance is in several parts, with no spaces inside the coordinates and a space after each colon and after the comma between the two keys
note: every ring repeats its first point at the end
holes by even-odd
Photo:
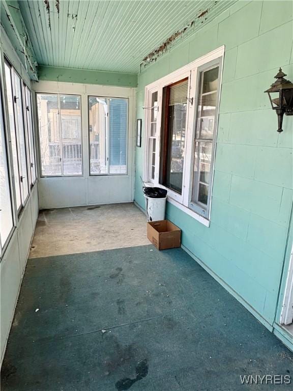
{"type": "MultiPolygon", "coordinates": [[[[40,93],[77,94],[81,96],[83,175],[79,177],[40,177],[38,154],[40,209],[132,202],[134,199],[136,89],[57,81],[32,82],[32,88],[35,92],[40,93]],[[89,122],[87,108],[87,97],[89,95],[129,99],[127,175],[89,175],[89,122]]],[[[34,105],[36,106],[36,99],[34,99],[34,105]]],[[[35,128],[37,129],[36,118],[35,128]]]]}

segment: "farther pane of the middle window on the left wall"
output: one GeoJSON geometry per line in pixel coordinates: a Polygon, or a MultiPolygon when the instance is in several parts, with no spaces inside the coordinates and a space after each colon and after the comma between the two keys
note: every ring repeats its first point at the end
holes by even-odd
{"type": "Polygon", "coordinates": [[[24,135],[24,122],[23,122],[23,111],[22,111],[22,95],[21,95],[21,79],[14,72],[15,81],[15,96],[16,96],[16,113],[17,113],[17,126],[18,126],[18,147],[21,165],[21,196],[22,204],[28,196],[28,175],[27,175],[27,160],[26,160],[26,144],[24,135]]]}

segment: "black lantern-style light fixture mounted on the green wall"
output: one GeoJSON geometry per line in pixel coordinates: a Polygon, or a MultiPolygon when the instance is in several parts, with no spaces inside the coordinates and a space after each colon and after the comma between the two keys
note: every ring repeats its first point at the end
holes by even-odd
{"type": "Polygon", "coordinates": [[[276,74],[277,79],[271,87],[265,91],[268,93],[273,110],[276,110],[278,116],[278,132],[281,133],[283,116],[293,116],[293,83],[284,79],[287,76],[282,69],[276,74]]]}

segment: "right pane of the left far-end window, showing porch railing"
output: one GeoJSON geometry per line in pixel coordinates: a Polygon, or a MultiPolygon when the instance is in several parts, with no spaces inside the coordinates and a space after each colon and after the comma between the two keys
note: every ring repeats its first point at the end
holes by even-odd
{"type": "Polygon", "coordinates": [[[63,174],[82,174],[80,96],[60,95],[63,174]]]}

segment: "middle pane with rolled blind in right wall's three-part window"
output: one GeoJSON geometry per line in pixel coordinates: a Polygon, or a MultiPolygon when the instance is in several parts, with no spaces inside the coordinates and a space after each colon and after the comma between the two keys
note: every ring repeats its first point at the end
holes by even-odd
{"type": "Polygon", "coordinates": [[[163,184],[179,193],[182,192],[183,165],[185,154],[185,128],[187,111],[188,79],[164,88],[166,102],[166,133],[164,145],[163,184]]]}

